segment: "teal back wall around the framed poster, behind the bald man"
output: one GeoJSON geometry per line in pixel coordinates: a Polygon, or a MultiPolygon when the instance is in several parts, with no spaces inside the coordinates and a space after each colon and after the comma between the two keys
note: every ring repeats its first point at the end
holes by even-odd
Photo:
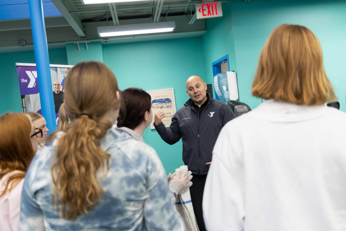
{"type": "MultiPolygon", "coordinates": [[[[202,38],[103,45],[104,63],[118,79],[119,88],[146,91],[174,89],[176,109],[189,99],[185,82],[191,75],[205,76],[202,38]]],[[[183,165],[182,142],[169,145],[148,127],[143,138],[160,157],[166,172],[183,165]]]]}

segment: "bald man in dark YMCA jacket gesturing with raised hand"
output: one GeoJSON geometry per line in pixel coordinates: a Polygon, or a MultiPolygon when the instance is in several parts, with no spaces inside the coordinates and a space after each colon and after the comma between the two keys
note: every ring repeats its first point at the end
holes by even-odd
{"type": "Polygon", "coordinates": [[[186,81],[186,93],[190,99],[176,111],[172,123],[166,128],[162,123],[165,114],[155,113],[154,126],[168,144],[183,141],[183,161],[192,171],[190,194],[193,211],[200,231],[206,230],[203,222],[202,197],[204,184],[211,163],[211,155],[221,128],[235,116],[232,110],[207,93],[207,83],[197,75],[186,81]]]}

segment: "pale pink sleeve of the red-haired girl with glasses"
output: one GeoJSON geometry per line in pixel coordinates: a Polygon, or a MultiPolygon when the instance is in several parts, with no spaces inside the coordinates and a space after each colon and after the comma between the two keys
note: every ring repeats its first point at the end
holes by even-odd
{"type": "Polygon", "coordinates": [[[19,230],[20,197],[23,183],[24,179],[20,180],[8,197],[10,224],[13,231],[19,230]]]}

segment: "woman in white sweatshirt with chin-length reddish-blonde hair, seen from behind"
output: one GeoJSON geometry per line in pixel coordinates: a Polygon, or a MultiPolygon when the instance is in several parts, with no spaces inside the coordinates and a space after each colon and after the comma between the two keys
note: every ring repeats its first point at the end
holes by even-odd
{"type": "Polygon", "coordinates": [[[346,230],[346,114],[317,37],[280,25],[268,37],[252,87],[266,99],[227,123],[203,195],[212,230],[346,230]]]}

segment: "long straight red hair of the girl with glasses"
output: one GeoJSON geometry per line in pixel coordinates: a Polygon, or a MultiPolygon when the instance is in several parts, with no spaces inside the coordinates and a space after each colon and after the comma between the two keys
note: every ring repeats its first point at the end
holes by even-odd
{"type": "Polygon", "coordinates": [[[31,145],[31,122],[22,113],[8,113],[0,117],[0,180],[9,172],[19,170],[4,182],[0,197],[12,190],[29,168],[35,152],[31,145]]]}

